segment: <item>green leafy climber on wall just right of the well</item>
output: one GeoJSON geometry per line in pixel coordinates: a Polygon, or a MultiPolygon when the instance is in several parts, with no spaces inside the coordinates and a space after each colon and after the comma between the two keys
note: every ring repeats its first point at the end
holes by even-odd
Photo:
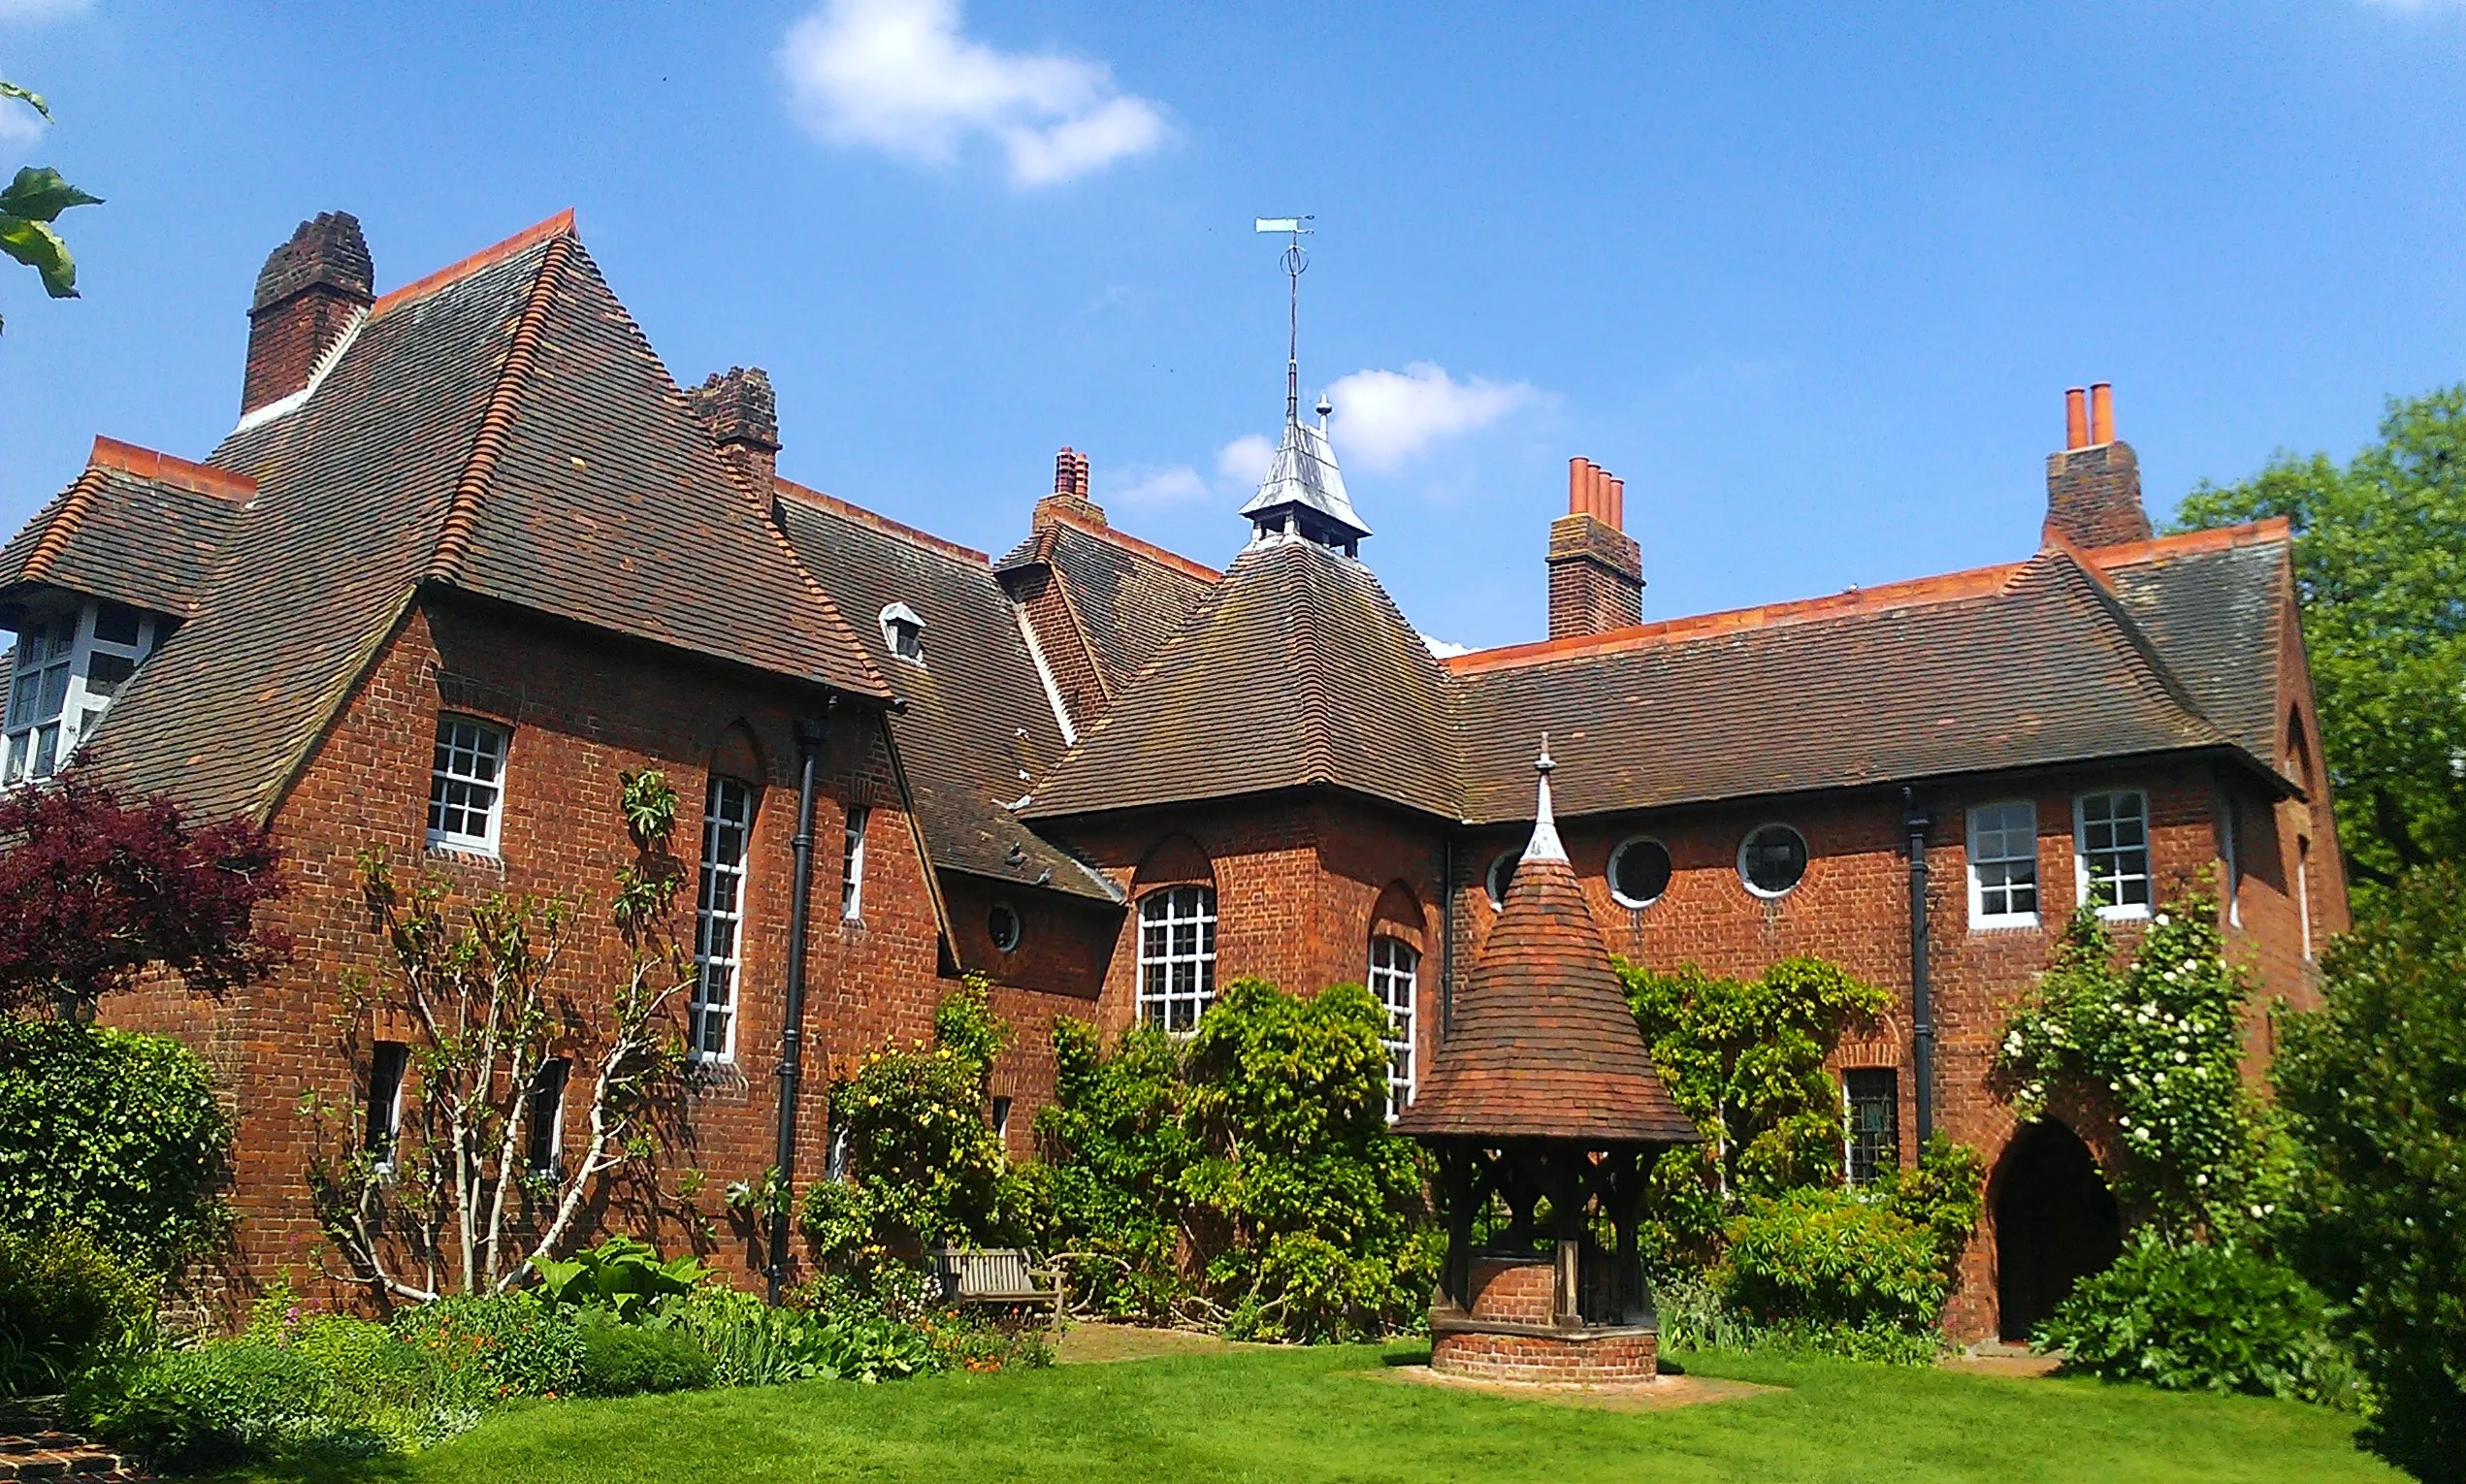
{"type": "Polygon", "coordinates": [[[1706,1260],[1751,1196],[1840,1183],[1842,1092],[1825,1055],[1842,1025],[1884,1008],[1882,986],[1808,956],[1756,979],[1618,959],[1618,976],[1669,1097],[1704,1129],[1652,1166],[1662,1260],[1706,1260]]]}

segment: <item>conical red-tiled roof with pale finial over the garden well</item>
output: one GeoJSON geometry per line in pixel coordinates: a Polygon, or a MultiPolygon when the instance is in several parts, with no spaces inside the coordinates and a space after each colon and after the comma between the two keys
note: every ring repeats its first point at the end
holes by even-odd
{"type": "Polygon", "coordinates": [[[1396,1131],[1694,1144],[1697,1127],[1662,1087],[1610,969],[1610,947],[1566,863],[1549,767],[1544,752],[1531,846],[1455,1001],[1448,1040],[1396,1131]]]}

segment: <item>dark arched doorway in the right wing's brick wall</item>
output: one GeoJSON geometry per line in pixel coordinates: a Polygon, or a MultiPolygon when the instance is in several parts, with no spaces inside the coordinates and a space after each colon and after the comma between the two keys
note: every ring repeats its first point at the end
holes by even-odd
{"type": "Polygon", "coordinates": [[[2123,1218],[2089,1146],[2047,1119],[2012,1134],[1995,1176],[1997,1334],[2030,1339],[2071,1284],[2121,1250],[2123,1218]]]}

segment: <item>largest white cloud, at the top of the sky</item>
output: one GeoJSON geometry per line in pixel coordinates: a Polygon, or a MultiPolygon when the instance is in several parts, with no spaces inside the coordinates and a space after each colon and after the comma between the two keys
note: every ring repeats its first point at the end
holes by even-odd
{"type": "Polygon", "coordinates": [[[826,0],[789,27],[779,59],[821,138],[925,165],[991,138],[1021,190],[1147,155],[1166,136],[1164,108],[1115,86],[1102,62],[959,35],[959,0],[826,0]]]}

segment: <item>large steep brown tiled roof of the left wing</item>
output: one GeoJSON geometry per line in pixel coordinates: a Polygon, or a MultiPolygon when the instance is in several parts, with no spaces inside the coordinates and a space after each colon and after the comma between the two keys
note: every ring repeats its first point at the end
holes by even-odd
{"type": "Polygon", "coordinates": [[[888,695],[570,214],[380,298],[210,463],[259,493],[91,742],[128,789],[269,809],[424,584],[888,695]]]}

